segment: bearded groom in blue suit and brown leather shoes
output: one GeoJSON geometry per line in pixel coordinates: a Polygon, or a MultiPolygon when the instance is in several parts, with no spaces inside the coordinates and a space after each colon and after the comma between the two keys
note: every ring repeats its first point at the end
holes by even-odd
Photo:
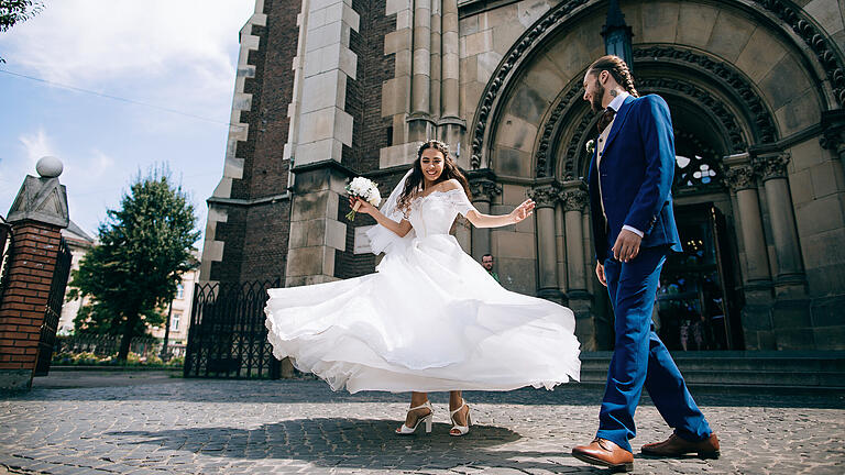
{"type": "Polygon", "coordinates": [[[670,252],[681,251],[670,192],[674,139],[669,108],[659,96],[639,98],[617,56],[603,56],[590,66],[584,100],[602,111],[590,165],[590,209],[595,273],[611,296],[616,341],[599,432],[589,445],[572,449],[572,455],[630,471],[628,440],[636,434],[634,411],[645,386],[674,432],[665,442],[644,445],[644,454],[717,457],[716,434],[650,328],[660,269],[670,252]]]}

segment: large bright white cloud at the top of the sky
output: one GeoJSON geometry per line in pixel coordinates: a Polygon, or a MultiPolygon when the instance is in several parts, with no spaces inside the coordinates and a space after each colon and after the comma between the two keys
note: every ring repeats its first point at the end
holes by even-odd
{"type": "MultiPolygon", "coordinates": [[[[62,0],[0,37],[6,67],[134,100],[231,96],[254,0],[62,0]],[[172,78],[178,77],[178,81],[172,78]],[[169,80],[168,80],[169,79],[169,80]],[[116,80],[124,90],[116,91],[116,80]],[[157,80],[168,86],[162,88],[157,80]]],[[[166,103],[163,106],[167,106],[166,103]]]]}

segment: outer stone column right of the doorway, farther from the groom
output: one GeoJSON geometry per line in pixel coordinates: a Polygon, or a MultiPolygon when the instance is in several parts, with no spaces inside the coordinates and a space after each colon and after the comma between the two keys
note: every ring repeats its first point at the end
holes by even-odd
{"type": "Polygon", "coordinates": [[[778,259],[776,294],[801,295],[804,291],[804,267],[795,230],[795,216],[787,180],[788,153],[760,155],[755,159],[757,175],[762,178],[766,201],[769,203],[769,220],[778,259]]]}

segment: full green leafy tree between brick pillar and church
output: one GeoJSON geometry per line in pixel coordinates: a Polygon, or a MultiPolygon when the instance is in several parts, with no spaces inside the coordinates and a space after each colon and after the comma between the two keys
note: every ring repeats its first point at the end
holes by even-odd
{"type": "Polygon", "coordinates": [[[163,322],[180,275],[196,267],[199,232],[194,206],[166,169],[139,174],[120,207],[107,211],[99,244],[72,274],[69,298],[90,297],[75,329],[121,335],[118,360],[125,361],[132,338],[163,322]]]}

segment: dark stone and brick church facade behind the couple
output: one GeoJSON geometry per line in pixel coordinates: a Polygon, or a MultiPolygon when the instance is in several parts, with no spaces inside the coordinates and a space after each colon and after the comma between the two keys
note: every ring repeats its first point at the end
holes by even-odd
{"type": "Polygon", "coordinates": [[[256,0],[240,32],[223,176],[200,279],[317,284],[374,270],[348,221],[354,176],[386,196],[426,139],[447,142],[482,212],[453,233],[506,288],[613,344],[594,275],[586,67],[628,59],[669,103],[684,252],[656,324],[674,350],[845,350],[845,7],[837,0],[256,0]]]}

